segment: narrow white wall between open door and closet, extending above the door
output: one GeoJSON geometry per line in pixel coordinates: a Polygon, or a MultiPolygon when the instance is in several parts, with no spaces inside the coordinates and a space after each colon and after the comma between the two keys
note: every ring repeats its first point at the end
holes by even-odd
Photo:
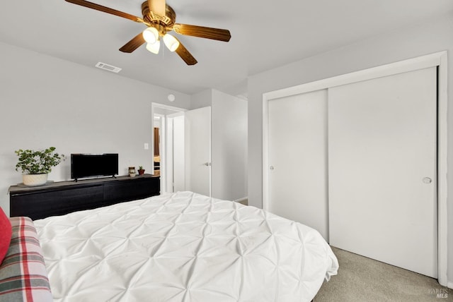
{"type": "Polygon", "coordinates": [[[218,90],[192,96],[191,109],[211,107],[212,197],[247,197],[247,101],[218,90]]]}

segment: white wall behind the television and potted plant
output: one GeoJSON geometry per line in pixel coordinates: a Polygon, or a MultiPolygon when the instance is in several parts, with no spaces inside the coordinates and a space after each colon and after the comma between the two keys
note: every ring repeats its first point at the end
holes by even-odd
{"type": "MultiPolygon", "coordinates": [[[[0,206],[8,214],[8,187],[21,183],[14,150],[55,146],[57,152],[115,152],[119,174],[151,171],[151,102],[188,108],[190,96],[0,43],[0,206]]],[[[93,62],[93,65],[96,62],[93,62]]],[[[70,159],[50,180],[70,178],[70,159]]]]}

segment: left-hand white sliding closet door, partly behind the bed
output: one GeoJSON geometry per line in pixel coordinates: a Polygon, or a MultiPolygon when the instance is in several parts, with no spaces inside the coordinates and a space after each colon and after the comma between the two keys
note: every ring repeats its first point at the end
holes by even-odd
{"type": "Polygon", "coordinates": [[[328,240],[327,91],[268,102],[268,207],[328,240]]]}

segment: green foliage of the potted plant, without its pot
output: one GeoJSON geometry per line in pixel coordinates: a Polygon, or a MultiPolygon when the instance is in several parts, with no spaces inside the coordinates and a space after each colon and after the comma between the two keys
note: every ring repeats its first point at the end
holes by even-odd
{"type": "Polygon", "coordinates": [[[19,157],[16,171],[20,169],[23,174],[50,173],[52,167],[66,159],[64,155],[55,152],[55,147],[39,151],[19,149],[14,152],[19,157]]]}

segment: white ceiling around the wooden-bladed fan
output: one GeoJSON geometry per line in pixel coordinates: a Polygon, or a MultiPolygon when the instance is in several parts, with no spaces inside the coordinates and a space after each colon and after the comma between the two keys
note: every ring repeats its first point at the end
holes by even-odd
{"type": "MultiPolygon", "coordinates": [[[[144,0],[91,0],[142,17],[144,0]]],[[[383,34],[452,15],[452,0],[168,0],[176,22],[225,28],[230,42],[178,36],[198,64],[164,47],[118,49],[145,26],[64,0],[2,0],[0,42],[86,66],[101,61],[118,75],[193,94],[214,88],[239,95],[246,78],[383,34]],[[164,49],[164,51],[162,51],[164,49]]],[[[107,71],[105,71],[107,72],[107,71]]]]}

